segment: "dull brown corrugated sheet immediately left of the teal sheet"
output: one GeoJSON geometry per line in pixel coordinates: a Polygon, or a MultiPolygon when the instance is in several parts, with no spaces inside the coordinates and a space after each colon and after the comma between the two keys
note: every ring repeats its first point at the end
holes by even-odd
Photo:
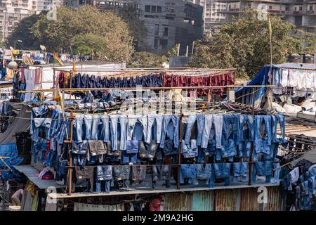
{"type": "Polygon", "coordinates": [[[192,193],[166,193],[164,211],[191,211],[192,193]]]}

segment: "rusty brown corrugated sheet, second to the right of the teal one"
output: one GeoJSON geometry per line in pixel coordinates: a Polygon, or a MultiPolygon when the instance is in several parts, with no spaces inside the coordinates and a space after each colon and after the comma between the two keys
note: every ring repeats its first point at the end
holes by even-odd
{"type": "Polygon", "coordinates": [[[242,188],[240,198],[240,211],[259,211],[257,188],[242,188]]]}

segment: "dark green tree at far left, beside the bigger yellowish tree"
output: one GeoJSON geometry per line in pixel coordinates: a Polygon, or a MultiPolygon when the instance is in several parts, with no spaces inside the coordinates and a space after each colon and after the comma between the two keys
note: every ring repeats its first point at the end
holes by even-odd
{"type": "Polygon", "coordinates": [[[31,32],[31,27],[34,23],[37,23],[37,20],[44,15],[45,12],[41,12],[39,15],[30,15],[27,18],[23,18],[19,23],[15,25],[11,35],[6,40],[6,46],[14,46],[14,42],[17,40],[22,41],[23,49],[38,49],[39,43],[37,37],[34,36],[31,32]]]}

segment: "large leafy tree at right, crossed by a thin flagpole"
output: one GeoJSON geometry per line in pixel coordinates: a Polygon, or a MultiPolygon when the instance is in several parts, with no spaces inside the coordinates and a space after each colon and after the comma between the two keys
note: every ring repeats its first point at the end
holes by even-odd
{"type": "MultiPolygon", "coordinates": [[[[197,41],[190,63],[201,68],[237,68],[237,76],[251,78],[270,63],[267,20],[258,20],[254,10],[245,8],[241,17],[220,26],[220,32],[197,41]]],[[[284,63],[289,52],[300,49],[300,40],[291,37],[295,25],[271,16],[272,63],[284,63]]]]}

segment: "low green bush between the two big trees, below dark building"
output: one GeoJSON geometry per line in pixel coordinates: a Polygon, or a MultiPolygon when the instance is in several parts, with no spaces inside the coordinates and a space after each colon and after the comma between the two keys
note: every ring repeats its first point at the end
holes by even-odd
{"type": "Polygon", "coordinates": [[[136,52],[132,60],[129,61],[129,68],[161,68],[166,62],[166,56],[157,56],[147,51],[136,52]]]}

